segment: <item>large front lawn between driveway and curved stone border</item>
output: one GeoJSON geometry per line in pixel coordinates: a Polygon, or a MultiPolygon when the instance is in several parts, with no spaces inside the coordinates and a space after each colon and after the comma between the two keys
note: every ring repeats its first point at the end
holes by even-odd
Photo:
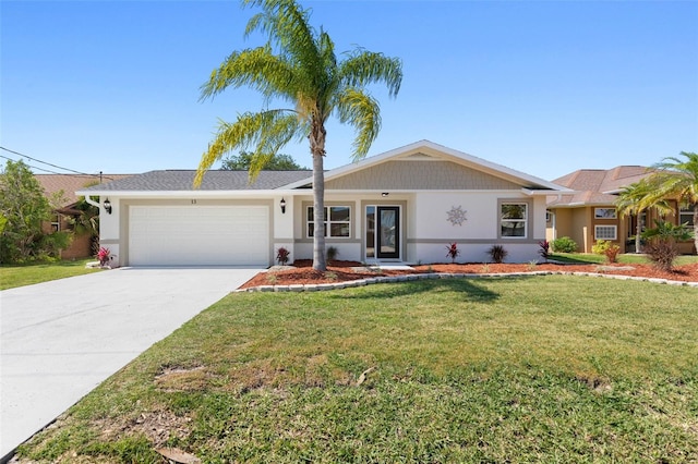
{"type": "Polygon", "coordinates": [[[232,294],[20,453],[157,463],[154,448],[170,445],[213,463],[691,461],[696,296],[571,276],[232,294]]]}

